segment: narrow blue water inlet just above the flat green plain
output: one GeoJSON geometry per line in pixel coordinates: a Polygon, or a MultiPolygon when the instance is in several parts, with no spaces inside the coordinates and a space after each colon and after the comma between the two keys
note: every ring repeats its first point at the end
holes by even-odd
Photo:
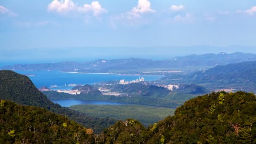
{"type": "Polygon", "coordinates": [[[70,107],[73,105],[79,104],[96,104],[96,105],[133,105],[128,103],[120,103],[120,102],[110,102],[110,101],[85,101],[85,100],[78,100],[78,99],[57,99],[51,100],[53,103],[57,103],[61,105],[61,107],[70,107]]]}

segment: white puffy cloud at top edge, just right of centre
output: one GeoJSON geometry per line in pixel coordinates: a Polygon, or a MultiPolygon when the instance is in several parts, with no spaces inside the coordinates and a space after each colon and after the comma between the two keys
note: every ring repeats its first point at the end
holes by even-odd
{"type": "Polygon", "coordinates": [[[151,3],[149,0],[139,0],[138,5],[127,14],[133,17],[141,17],[141,14],[155,12],[155,10],[151,9],[151,3]]]}

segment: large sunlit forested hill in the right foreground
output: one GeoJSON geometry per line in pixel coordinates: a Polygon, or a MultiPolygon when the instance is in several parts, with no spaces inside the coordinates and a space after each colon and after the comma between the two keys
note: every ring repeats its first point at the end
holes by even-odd
{"type": "Polygon", "coordinates": [[[256,143],[256,96],[211,93],[185,102],[148,128],[137,120],[118,121],[103,132],[116,144],[253,144],[256,143]]]}

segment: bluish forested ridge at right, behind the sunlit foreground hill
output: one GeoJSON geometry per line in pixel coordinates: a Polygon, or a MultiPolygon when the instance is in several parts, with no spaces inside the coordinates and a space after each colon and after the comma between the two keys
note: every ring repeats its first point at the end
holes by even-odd
{"type": "Polygon", "coordinates": [[[235,89],[234,91],[256,92],[256,61],[218,65],[196,72],[167,74],[156,83],[195,83],[210,91],[217,89],[235,89]]]}

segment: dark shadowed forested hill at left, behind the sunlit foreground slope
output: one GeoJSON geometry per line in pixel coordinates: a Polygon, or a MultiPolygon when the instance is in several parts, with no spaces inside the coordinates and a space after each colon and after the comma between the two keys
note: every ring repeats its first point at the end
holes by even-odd
{"type": "Polygon", "coordinates": [[[115,123],[113,119],[88,116],[66,107],[61,107],[59,104],[54,104],[35,87],[27,76],[9,70],[0,71],[0,99],[14,101],[23,105],[43,107],[51,112],[65,115],[69,119],[83,124],[86,128],[93,128],[96,133],[115,123]]]}

